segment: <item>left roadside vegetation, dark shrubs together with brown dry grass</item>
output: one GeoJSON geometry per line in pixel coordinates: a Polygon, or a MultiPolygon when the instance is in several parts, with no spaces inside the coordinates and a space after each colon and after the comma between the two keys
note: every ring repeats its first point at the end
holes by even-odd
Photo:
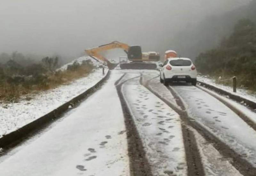
{"type": "Polygon", "coordinates": [[[0,102],[15,102],[22,95],[69,83],[86,76],[94,67],[87,60],[82,64],[74,62],[65,71],[56,71],[60,66],[58,57],[45,57],[38,61],[18,52],[0,54],[0,60],[0,102]]]}

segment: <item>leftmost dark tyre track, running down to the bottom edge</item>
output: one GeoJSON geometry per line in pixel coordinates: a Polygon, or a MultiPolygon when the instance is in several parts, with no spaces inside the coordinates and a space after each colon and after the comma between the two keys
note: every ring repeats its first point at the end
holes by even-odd
{"type": "Polygon", "coordinates": [[[132,119],[132,115],[130,113],[128,105],[125,102],[124,95],[121,91],[122,85],[125,82],[131,79],[138,78],[140,76],[127,79],[119,84],[119,82],[124,78],[125,75],[126,74],[124,74],[119,80],[117,80],[115,85],[117,94],[122,105],[124,122],[127,130],[126,134],[128,142],[128,155],[130,158],[130,174],[131,176],[153,176],[150,165],[146,158],[146,153],[144,151],[140,135],[136,129],[136,125],[132,119]]]}

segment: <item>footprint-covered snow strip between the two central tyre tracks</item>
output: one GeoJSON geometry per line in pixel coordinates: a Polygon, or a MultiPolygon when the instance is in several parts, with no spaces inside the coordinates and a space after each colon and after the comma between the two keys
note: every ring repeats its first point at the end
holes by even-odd
{"type": "MultiPolygon", "coordinates": [[[[140,76],[140,74],[137,74],[140,76]]],[[[153,175],[187,175],[185,148],[179,115],[139,83],[122,87],[143,142],[153,175]]]]}

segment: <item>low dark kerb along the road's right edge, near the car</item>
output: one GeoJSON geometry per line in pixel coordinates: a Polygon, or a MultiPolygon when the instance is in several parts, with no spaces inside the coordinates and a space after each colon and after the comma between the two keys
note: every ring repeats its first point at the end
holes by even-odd
{"type": "Polygon", "coordinates": [[[252,100],[248,100],[244,97],[241,97],[239,95],[235,95],[234,93],[231,93],[231,92],[228,92],[228,91],[225,91],[219,87],[216,87],[214,85],[211,85],[211,84],[207,84],[205,82],[202,82],[202,81],[198,81],[197,80],[197,83],[201,84],[202,86],[206,87],[206,88],[209,88],[209,89],[212,89],[214,90],[215,92],[219,92],[220,94],[222,95],[226,95],[226,96],[229,96],[230,99],[233,99],[233,100],[236,100],[238,102],[244,102],[246,103],[246,105],[252,109],[256,109],[256,102],[252,101],[252,100]]]}

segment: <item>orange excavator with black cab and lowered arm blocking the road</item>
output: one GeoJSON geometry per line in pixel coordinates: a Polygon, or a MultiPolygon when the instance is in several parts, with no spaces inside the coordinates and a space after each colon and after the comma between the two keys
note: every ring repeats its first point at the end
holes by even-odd
{"type": "Polygon", "coordinates": [[[116,48],[121,48],[127,54],[128,60],[130,63],[120,64],[121,69],[156,69],[157,66],[155,63],[146,63],[145,61],[159,61],[160,57],[142,57],[141,47],[140,46],[129,46],[127,44],[114,41],[109,44],[104,44],[95,48],[87,49],[85,52],[88,56],[99,61],[107,62],[109,69],[114,69],[117,64],[111,63],[108,59],[103,57],[100,52],[112,50],[116,48]],[[99,59],[99,60],[98,60],[99,59]]]}

